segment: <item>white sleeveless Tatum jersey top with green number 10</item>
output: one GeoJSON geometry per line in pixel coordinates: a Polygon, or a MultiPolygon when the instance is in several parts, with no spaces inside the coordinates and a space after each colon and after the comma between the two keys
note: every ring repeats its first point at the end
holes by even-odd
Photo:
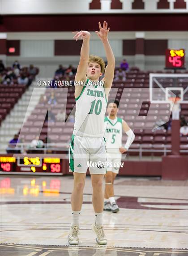
{"type": "Polygon", "coordinates": [[[74,135],[103,138],[104,117],[107,108],[105,89],[102,85],[83,86],[76,100],[74,135]]]}

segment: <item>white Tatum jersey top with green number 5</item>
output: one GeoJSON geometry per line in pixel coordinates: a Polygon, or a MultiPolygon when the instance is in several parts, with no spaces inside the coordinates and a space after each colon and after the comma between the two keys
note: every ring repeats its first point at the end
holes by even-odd
{"type": "Polygon", "coordinates": [[[116,117],[115,119],[110,119],[105,117],[105,134],[104,138],[106,140],[106,149],[108,153],[120,153],[119,148],[122,145],[122,119],[116,117]]]}

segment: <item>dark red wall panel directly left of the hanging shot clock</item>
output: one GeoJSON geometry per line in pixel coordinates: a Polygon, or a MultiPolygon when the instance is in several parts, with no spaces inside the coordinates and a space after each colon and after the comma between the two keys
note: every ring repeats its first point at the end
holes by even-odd
{"type": "Polygon", "coordinates": [[[145,40],[145,55],[165,55],[168,40],[145,40]]]}

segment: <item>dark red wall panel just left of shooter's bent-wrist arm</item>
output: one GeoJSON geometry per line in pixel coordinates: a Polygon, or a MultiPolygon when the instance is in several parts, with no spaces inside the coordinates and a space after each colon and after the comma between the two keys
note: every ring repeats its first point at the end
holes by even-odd
{"type": "Polygon", "coordinates": [[[82,40],[55,40],[55,55],[80,55],[82,40]]]}

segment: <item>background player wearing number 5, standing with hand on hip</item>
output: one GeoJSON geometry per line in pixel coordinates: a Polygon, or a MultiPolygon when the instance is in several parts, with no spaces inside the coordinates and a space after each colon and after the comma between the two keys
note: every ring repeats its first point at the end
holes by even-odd
{"type": "Polygon", "coordinates": [[[104,194],[104,211],[118,212],[114,198],[114,180],[119,173],[121,154],[127,152],[132,144],[135,135],[128,124],[117,117],[119,101],[109,100],[107,105],[108,117],[105,117],[105,140],[107,150],[107,174],[105,175],[105,194],[104,194]],[[122,132],[128,135],[128,139],[124,147],[122,146],[122,132]]]}

